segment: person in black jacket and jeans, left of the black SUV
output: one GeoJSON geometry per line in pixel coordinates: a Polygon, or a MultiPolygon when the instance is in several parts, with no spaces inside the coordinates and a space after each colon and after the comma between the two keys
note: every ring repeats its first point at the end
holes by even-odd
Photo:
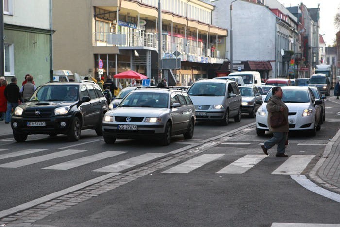
{"type": "Polygon", "coordinates": [[[11,83],[5,88],[4,94],[7,99],[5,123],[8,124],[11,121],[12,109],[14,110],[19,105],[19,102],[21,103],[20,88],[17,86],[16,77],[12,77],[11,83]]]}

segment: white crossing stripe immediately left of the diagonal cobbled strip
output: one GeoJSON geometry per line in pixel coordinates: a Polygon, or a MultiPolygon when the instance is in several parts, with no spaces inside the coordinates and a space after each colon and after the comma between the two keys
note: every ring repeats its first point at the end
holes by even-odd
{"type": "Polygon", "coordinates": [[[151,161],[155,158],[166,156],[168,154],[166,153],[146,153],[140,156],[132,157],[108,166],[104,166],[102,168],[92,170],[95,172],[112,172],[112,173],[118,173],[123,170],[129,169],[131,167],[134,167],[136,165],[140,165],[142,163],[151,161]]]}

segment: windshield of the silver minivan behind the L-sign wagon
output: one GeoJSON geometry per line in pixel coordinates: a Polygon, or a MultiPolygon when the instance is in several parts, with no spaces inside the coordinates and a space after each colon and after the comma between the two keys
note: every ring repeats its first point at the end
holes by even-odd
{"type": "Polygon", "coordinates": [[[195,83],[188,91],[195,96],[225,96],[225,84],[221,83],[195,83]]]}

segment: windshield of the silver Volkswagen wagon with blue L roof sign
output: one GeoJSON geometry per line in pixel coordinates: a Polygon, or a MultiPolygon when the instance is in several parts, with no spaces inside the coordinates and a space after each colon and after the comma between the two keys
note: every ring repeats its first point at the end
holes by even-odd
{"type": "Polygon", "coordinates": [[[151,107],[168,108],[169,95],[156,92],[133,92],[129,93],[119,107],[151,107]]]}

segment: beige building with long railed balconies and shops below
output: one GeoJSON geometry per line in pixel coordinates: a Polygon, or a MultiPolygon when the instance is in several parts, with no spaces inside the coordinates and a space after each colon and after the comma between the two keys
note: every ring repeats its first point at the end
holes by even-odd
{"type": "Polygon", "coordinates": [[[211,24],[214,6],[199,0],[160,3],[161,19],[158,0],[54,0],[54,69],[97,77],[101,59],[103,76],[135,70],[157,81],[161,58],[170,84],[208,77],[227,60],[227,30],[211,24]]]}

